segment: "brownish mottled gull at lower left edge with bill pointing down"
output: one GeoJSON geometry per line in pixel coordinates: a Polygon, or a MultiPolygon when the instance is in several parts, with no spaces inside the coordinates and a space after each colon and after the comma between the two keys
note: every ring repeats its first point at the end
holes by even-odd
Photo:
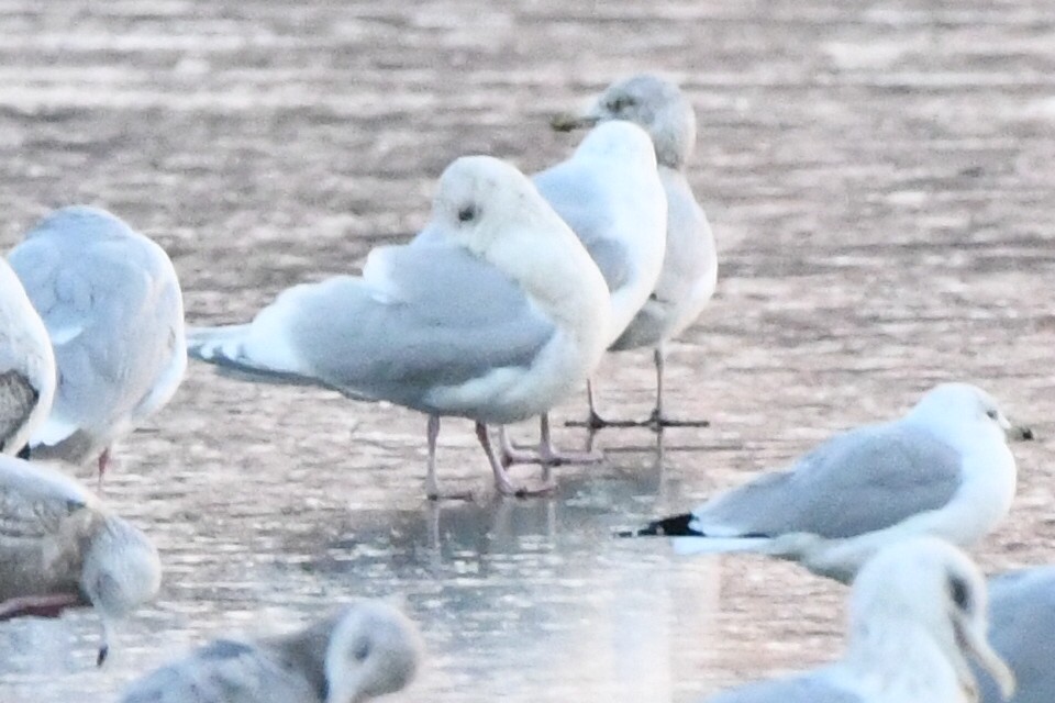
{"type": "Polygon", "coordinates": [[[74,479],[0,456],[0,621],[90,605],[102,621],[101,665],[113,621],[153,600],[160,578],[146,536],[74,479]]]}

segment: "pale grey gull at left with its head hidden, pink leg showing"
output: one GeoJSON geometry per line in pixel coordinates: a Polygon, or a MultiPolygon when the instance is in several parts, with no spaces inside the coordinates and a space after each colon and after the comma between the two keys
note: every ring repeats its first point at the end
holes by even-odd
{"type": "Polygon", "coordinates": [[[184,302],[164,249],[106,210],[52,212],[8,256],[58,365],[35,458],[97,458],[176,392],[187,368],[184,302]]]}

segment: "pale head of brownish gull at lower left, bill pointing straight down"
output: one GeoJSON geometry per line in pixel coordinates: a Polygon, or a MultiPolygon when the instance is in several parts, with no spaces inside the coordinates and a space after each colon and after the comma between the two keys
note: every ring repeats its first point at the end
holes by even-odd
{"type": "Polygon", "coordinates": [[[113,621],[125,617],[157,595],[162,562],[142,532],[109,515],[91,539],[80,573],[80,588],[102,621],[97,663],[110,651],[113,621]]]}

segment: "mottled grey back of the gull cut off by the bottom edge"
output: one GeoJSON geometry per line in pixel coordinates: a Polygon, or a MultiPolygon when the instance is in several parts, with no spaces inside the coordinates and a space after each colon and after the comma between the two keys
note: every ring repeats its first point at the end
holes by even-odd
{"type": "Polygon", "coordinates": [[[307,681],[256,648],[216,640],[133,683],[122,703],[310,703],[307,681]]]}

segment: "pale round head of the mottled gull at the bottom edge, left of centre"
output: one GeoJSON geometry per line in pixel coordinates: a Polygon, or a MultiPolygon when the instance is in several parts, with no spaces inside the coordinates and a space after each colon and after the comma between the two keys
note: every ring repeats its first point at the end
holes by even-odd
{"type": "Polygon", "coordinates": [[[326,647],[325,703],[359,703],[406,688],[421,652],[417,626],[396,607],[366,600],[347,606],[326,647]]]}

